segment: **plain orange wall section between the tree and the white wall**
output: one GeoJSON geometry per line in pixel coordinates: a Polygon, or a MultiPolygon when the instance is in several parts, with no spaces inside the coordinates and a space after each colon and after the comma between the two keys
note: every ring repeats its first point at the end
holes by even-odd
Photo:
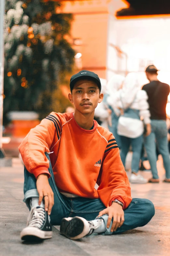
{"type": "MultiPolygon", "coordinates": [[[[82,69],[106,78],[106,42],[108,14],[75,14],[71,35],[81,38],[82,69]]],[[[76,49],[76,47],[75,47],[76,49]]]]}

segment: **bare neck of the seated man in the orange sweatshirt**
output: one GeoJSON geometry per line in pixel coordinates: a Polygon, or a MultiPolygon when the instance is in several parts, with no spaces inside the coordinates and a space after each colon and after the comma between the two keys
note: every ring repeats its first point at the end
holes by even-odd
{"type": "Polygon", "coordinates": [[[93,126],[93,119],[94,119],[94,111],[90,114],[82,114],[75,110],[74,112],[74,118],[78,125],[85,129],[85,130],[90,130],[93,126]]]}

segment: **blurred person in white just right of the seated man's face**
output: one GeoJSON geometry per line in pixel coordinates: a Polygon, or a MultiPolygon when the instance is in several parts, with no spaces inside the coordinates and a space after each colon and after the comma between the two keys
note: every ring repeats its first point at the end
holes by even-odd
{"type": "Polygon", "coordinates": [[[111,125],[111,110],[108,108],[107,99],[107,89],[106,89],[106,79],[100,78],[102,89],[101,93],[104,94],[103,101],[97,105],[94,112],[94,119],[97,123],[108,129],[109,124],[111,125]]]}

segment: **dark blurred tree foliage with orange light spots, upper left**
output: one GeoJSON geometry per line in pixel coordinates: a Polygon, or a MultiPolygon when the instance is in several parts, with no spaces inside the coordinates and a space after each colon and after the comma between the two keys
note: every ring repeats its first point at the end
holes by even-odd
{"type": "Polygon", "coordinates": [[[4,121],[11,110],[52,110],[57,84],[72,71],[75,52],[68,42],[71,14],[60,2],[6,0],[4,121]]]}

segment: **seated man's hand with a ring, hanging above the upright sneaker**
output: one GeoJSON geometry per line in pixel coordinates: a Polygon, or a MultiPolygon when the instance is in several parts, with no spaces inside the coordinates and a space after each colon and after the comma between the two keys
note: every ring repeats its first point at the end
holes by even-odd
{"type": "Polygon", "coordinates": [[[44,197],[45,210],[50,215],[51,209],[54,205],[54,193],[49,184],[49,180],[46,174],[40,174],[36,181],[36,188],[39,194],[38,204],[40,205],[44,197]]]}

